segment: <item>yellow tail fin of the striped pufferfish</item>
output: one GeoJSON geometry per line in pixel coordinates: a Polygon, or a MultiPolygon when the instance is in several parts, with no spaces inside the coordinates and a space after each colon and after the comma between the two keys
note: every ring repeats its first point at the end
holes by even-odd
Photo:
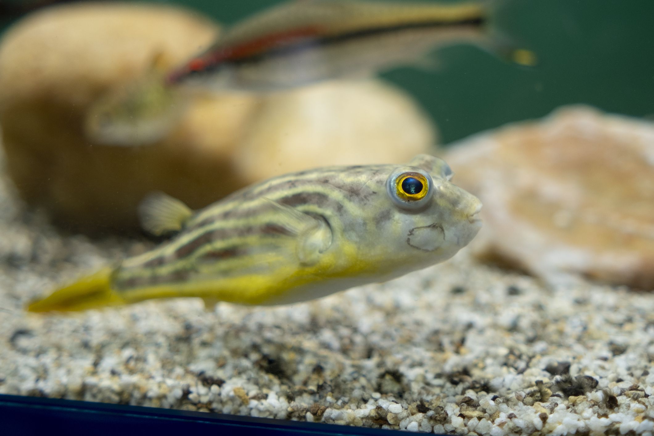
{"type": "Polygon", "coordinates": [[[125,304],[109,286],[112,270],[107,268],[58,289],[43,299],[27,305],[29,312],[68,312],[125,304]]]}

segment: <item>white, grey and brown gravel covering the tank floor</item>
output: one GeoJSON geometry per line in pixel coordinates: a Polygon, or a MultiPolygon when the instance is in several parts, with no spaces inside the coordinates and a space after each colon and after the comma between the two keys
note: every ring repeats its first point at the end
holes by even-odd
{"type": "Polygon", "coordinates": [[[151,242],[63,233],[0,184],[0,393],[434,433],[654,429],[654,294],[453,260],[286,307],[23,305],[151,242]]]}

